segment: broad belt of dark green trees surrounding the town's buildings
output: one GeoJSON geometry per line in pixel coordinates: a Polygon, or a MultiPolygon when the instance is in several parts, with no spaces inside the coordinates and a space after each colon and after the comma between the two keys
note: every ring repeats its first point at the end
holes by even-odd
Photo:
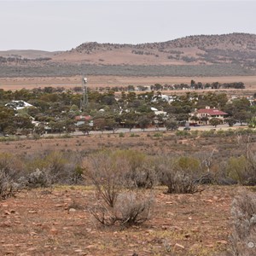
{"type": "MultiPolygon", "coordinates": [[[[218,108],[228,113],[226,122],[234,125],[236,122],[254,124],[256,107],[245,97],[230,101],[225,93],[208,92],[203,95],[187,92],[182,96],[172,96],[172,102],[167,102],[161,93],[146,91],[137,94],[133,91],[122,91],[117,95],[113,90],[98,92],[89,90],[89,104],[82,111],[82,95],[75,90],[46,87],[33,90],[0,90],[0,133],[41,135],[45,127],[50,132],[73,132],[76,130],[89,133],[91,129],[116,131],[119,127],[140,127],[143,130],[148,125],[166,126],[167,130],[175,130],[178,125],[184,125],[191,119],[195,108],[218,108]],[[33,107],[15,109],[6,106],[11,101],[25,101],[33,107]],[[161,113],[156,114],[157,109],[161,113]],[[90,116],[84,124],[76,126],[76,116],[90,116]],[[93,128],[92,128],[93,123],[93,128]],[[37,125],[34,125],[37,124],[37,125]]],[[[193,118],[192,118],[193,119],[193,118]]],[[[195,119],[195,122],[198,119],[195,119]]],[[[214,124],[212,124],[214,125],[214,124]]],[[[218,125],[218,123],[215,125],[218,125]]],[[[255,125],[255,124],[254,124],[255,125]]]]}

